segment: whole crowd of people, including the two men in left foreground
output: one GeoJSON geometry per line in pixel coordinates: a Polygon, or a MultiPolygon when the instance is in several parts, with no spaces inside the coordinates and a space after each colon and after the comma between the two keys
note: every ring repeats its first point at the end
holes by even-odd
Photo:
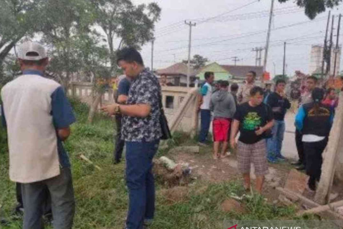
{"type": "MultiPolygon", "coordinates": [[[[129,204],[125,228],[142,229],[151,223],[155,211],[152,167],[162,137],[161,84],[144,67],[136,49],[123,48],[116,59],[124,75],[119,77],[115,103],[101,110],[116,117],[114,163],[120,163],[126,145],[129,204]]],[[[44,76],[49,63],[45,48],[26,42],[19,48],[18,61],[23,74],[2,88],[1,117],[8,133],[10,180],[17,183],[18,201],[24,207],[23,228],[40,229],[42,215],[50,210],[54,228],[72,228],[74,190],[63,141],[69,137],[70,125],[76,119],[61,85],[44,76]]],[[[199,93],[199,145],[208,146],[213,117],[213,159],[227,157],[228,145],[231,150],[236,149],[244,187],[251,188],[253,163],[256,190],[261,193],[268,161],[285,160],[281,154],[284,118],[291,106],[284,91],[286,82],[277,80],[272,92],[270,88],[256,86],[254,71],[247,72],[241,87],[225,80],[213,87],[214,73],[206,72],[204,77],[206,82],[199,93]]],[[[310,190],[316,189],[320,179],[321,154],[337,106],[334,91],[325,93],[316,84],[317,78],[307,78],[307,90],[295,118],[299,154],[296,165],[299,170],[306,169],[310,176],[310,190]]],[[[164,78],[162,85],[166,85],[164,78]]]]}

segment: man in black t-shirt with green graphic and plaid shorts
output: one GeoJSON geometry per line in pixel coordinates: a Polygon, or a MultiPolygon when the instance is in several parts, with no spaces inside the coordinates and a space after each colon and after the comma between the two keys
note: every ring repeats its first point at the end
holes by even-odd
{"type": "Polygon", "coordinates": [[[238,170],[243,174],[244,186],[250,189],[250,163],[254,163],[256,190],[261,193],[264,175],[268,173],[266,131],[273,126],[271,108],[262,103],[263,89],[253,87],[250,90],[249,102],[237,107],[232,125],[230,145],[236,147],[235,137],[239,130],[237,144],[238,170]]]}

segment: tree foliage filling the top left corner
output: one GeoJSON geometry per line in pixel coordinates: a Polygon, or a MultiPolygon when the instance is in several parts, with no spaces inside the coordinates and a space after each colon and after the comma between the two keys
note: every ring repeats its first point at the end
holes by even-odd
{"type": "Polygon", "coordinates": [[[39,31],[44,0],[0,0],[0,65],[24,36],[39,31]]]}

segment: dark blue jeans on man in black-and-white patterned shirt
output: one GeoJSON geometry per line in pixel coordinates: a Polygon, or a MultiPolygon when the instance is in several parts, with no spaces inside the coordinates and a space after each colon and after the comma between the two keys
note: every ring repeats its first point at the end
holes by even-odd
{"type": "Polygon", "coordinates": [[[128,229],[142,229],[144,219],[153,219],[155,183],[152,159],[159,140],[152,142],[126,141],[126,184],[129,189],[128,229]]]}

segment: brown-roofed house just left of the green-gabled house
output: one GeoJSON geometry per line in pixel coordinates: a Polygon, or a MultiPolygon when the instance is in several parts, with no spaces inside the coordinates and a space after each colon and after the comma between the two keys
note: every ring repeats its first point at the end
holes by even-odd
{"type": "MultiPolygon", "coordinates": [[[[167,68],[156,70],[156,74],[161,77],[162,75],[167,76],[168,82],[172,83],[174,86],[187,86],[187,70],[188,67],[184,63],[176,63],[167,68]]],[[[196,81],[196,71],[190,69],[190,86],[194,87],[194,82],[196,81]]]]}

